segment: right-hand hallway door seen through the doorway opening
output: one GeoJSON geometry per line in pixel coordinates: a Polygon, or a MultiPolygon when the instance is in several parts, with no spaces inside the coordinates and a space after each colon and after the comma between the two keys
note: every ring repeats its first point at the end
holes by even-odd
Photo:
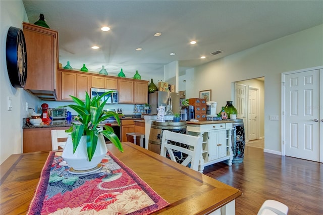
{"type": "Polygon", "coordinates": [[[258,90],[248,87],[248,140],[258,139],[258,90]]]}

